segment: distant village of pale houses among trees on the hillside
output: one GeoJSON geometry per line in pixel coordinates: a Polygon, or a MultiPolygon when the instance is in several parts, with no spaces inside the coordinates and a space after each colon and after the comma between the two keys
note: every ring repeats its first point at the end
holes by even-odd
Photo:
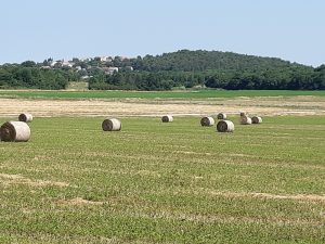
{"type": "Polygon", "coordinates": [[[73,69],[80,74],[81,79],[91,78],[92,75],[98,74],[99,72],[113,75],[114,73],[123,70],[133,70],[131,65],[128,65],[131,59],[126,56],[95,56],[95,57],[86,57],[65,61],[57,60],[54,61],[52,57],[44,60],[41,68],[43,69],[73,69]]]}

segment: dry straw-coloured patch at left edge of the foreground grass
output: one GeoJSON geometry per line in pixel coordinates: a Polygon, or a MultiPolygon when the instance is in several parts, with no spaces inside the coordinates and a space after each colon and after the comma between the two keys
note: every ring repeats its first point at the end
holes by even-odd
{"type": "Polygon", "coordinates": [[[58,182],[58,181],[49,181],[49,180],[31,180],[21,175],[9,175],[9,174],[0,174],[1,183],[4,185],[11,184],[28,184],[30,187],[60,187],[65,188],[69,187],[66,182],[58,182]]]}

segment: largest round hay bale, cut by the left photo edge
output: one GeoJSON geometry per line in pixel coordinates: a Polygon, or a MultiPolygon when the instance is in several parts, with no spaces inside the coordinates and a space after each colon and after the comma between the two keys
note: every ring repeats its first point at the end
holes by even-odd
{"type": "Polygon", "coordinates": [[[1,141],[26,142],[30,138],[30,128],[24,121],[8,121],[0,127],[1,141]]]}

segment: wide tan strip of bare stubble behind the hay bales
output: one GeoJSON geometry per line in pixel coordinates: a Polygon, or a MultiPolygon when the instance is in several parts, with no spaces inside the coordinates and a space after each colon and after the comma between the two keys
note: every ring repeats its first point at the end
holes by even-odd
{"type": "Polygon", "coordinates": [[[0,98],[0,117],[17,117],[23,112],[36,117],[52,116],[161,116],[217,115],[219,112],[258,115],[325,115],[325,98],[235,98],[206,100],[121,99],[43,100],[0,98]]]}

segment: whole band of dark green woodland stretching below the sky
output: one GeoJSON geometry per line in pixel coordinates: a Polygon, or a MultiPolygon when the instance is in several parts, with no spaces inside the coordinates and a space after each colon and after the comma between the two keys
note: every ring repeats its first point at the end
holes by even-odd
{"type": "Polygon", "coordinates": [[[325,65],[317,68],[274,57],[218,51],[181,50],[135,59],[115,56],[68,65],[26,61],[0,66],[0,88],[64,89],[69,81],[86,79],[98,90],[171,90],[207,87],[227,90],[324,90],[325,65]],[[109,67],[118,72],[107,72],[109,67]]]}

